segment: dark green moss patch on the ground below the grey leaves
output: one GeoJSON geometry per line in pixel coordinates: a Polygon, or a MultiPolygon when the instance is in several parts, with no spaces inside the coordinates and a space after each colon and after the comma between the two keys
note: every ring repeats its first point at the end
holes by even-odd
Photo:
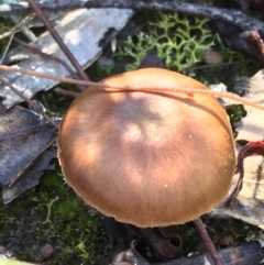
{"type": "Polygon", "coordinates": [[[48,264],[90,265],[107,256],[100,216],[58,173],[45,174],[41,185],[0,209],[0,245],[18,252],[23,261],[38,263],[46,243],[54,247],[48,264]]]}

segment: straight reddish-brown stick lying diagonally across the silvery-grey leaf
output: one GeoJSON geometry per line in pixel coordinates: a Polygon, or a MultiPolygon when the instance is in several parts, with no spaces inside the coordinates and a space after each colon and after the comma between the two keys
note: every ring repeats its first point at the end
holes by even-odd
{"type": "Polygon", "coordinates": [[[82,79],[82,80],[89,81],[89,78],[85,74],[85,71],[84,71],[82,67],[80,66],[80,64],[77,62],[77,59],[72,54],[69,48],[64,44],[63,38],[58,35],[56,30],[53,29],[53,26],[51,25],[50,21],[46,19],[46,16],[42,12],[42,10],[38,8],[38,5],[35,3],[35,1],[34,0],[28,0],[28,2],[30,4],[30,7],[35,11],[35,13],[40,18],[40,20],[43,22],[43,24],[46,26],[46,29],[48,30],[48,32],[51,33],[53,38],[57,42],[58,46],[65,53],[65,55],[67,56],[69,62],[73,64],[73,66],[75,67],[79,78],[82,79]]]}

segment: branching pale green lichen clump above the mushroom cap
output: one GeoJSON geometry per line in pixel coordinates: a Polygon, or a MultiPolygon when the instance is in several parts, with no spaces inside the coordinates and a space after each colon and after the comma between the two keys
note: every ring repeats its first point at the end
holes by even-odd
{"type": "Polygon", "coordinates": [[[154,21],[147,24],[148,31],[141,31],[135,37],[129,36],[116,53],[120,57],[133,58],[125,67],[128,70],[136,68],[153,47],[169,69],[180,70],[200,62],[201,53],[215,44],[205,18],[189,19],[176,13],[158,12],[154,21]]]}

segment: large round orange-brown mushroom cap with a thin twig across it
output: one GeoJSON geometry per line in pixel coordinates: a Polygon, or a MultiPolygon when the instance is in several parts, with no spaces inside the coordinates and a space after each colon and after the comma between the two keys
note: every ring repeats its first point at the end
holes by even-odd
{"type": "Polygon", "coordinates": [[[161,92],[89,87],[74,100],[61,124],[58,157],[84,201],[142,228],[185,223],[217,207],[235,168],[229,118],[211,95],[162,91],[208,88],[160,68],[101,84],[161,92]]]}

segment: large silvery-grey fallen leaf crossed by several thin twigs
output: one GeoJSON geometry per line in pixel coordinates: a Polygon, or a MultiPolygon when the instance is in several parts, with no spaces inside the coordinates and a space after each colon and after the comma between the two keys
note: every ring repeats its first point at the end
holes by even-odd
{"type": "MultiPolygon", "coordinates": [[[[100,56],[106,44],[117,35],[132,14],[133,11],[129,9],[77,9],[65,13],[55,30],[78,63],[84,67],[88,67],[100,56]]],[[[68,59],[48,32],[40,36],[34,46],[68,63],[68,59]]],[[[69,76],[63,65],[43,58],[37,54],[29,53],[29,49],[20,47],[18,53],[22,52],[30,55],[29,59],[19,63],[15,67],[61,77],[69,76]]],[[[12,56],[15,57],[15,53],[12,52],[12,56]]],[[[58,84],[54,80],[14,73],[3,73],[1,77],[9,80],[20,91],[23,91],[28,98],[32,98],[40,91],[46,91],[58,84]]],[[[2,85],[0,85],[0,98],[2,98],[0,110],[9,109],[22,101],[16,93],[2,85]]]]}

